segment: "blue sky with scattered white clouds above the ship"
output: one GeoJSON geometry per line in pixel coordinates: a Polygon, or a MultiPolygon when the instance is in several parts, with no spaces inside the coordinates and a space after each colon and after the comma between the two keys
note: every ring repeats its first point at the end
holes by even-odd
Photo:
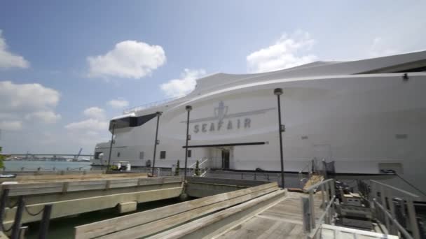
{"type": "Polygon", "coordinates": [[[203,75],[424,50],[424,9],[425,1],[1,1],[0,145],[92,153],[109,138],[110,117],[186,94],[203,75]]]}

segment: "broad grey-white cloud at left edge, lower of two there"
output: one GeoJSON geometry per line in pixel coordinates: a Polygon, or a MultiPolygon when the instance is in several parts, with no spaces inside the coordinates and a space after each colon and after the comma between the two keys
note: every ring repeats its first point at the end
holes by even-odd
{"type": "Polygon", "coordinates": [[[11,81],[0,81],[0,118],[8,119],[8,122],[15,122],[13,124],[5,123],[4,125],[7,125],[8,128],[22,128],[25,126],[22,119],[27,121],[35,119],[44,123],[56,122],[61,118],[61,115],[54,112],[59,100],[59,92],[40,84],[15,84],[11,81]]]}

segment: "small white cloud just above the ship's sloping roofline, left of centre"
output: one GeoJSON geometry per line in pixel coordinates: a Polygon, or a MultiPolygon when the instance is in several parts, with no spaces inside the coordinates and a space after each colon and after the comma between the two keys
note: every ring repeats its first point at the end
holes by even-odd
{"type": "Polygon", "coordinates": [[[167,83],[161,84],[160,89],[168,97],[184,96],[195,89],[197,79],[206,75],[204,69],[184,69],[179,79],[169,80],[167,83]]]}

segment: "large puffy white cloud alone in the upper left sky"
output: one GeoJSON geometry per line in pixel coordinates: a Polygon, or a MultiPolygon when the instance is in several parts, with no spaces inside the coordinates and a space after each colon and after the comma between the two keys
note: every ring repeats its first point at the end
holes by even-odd
{"type": "Polygon", "coordinates": [[[105,55],[88,57],[90,78],[143,78],[165,64],[160,45],[138,41],[122,41],[105,55]]]}

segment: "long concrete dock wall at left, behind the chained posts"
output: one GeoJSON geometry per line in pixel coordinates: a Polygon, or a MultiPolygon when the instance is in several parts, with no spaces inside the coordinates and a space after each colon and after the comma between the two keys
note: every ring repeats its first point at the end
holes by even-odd
{"type": "MultiPolygon", "coordinates": [[[[18,196],[24,196],[26,210],[22,222],[35,222],[46,204],[53,205],[51,218],[76,215],[106,208],[119,203],[149,202],[178,197],[183,190],[182,178],[108,178],[100,180],[36,182],[2,185],[2,191],[9,190],[9,203],[15,203],[18,196]]],[[[10,225],[17,208],[6,208],[4,224],[10,225]]]]}

